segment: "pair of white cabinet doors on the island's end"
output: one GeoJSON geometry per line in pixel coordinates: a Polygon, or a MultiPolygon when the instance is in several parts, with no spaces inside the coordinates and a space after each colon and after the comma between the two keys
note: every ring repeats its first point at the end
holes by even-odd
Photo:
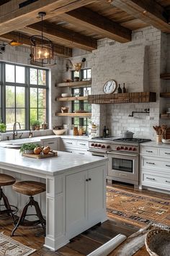
{"type": "Polygon", "coordinates": [[[105,209],[104,168],[66,176],[66,233],[80,234],[101,221],[105,209]]]}

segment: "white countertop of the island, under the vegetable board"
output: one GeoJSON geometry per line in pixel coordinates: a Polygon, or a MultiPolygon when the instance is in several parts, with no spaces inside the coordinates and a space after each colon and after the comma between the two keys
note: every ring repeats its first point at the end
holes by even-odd
{"type": "Polygon", "coordinates": [[[107,161],[107,158],[73,155],[62,151],[58,151],[58,156],[50,158],[28,158],[22,156],[19,150],[0,147],[0,168],[5,169],[5,167],[9,166],[48,175],[55,175],[58,172],[69,170],[79,170],[80,167],[91,166],[92,163],[104,163],[104,161],[107,161]]]}

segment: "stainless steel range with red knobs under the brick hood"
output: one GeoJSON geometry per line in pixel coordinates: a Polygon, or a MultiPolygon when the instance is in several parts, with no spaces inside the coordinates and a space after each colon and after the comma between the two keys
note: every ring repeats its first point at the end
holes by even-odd
{"type": "Polygon", "coordinates": [[[147,139],[94,137],[89,141],[91,155],[109,158],[107,179],[139,184],[139,144],[147,139]]]}

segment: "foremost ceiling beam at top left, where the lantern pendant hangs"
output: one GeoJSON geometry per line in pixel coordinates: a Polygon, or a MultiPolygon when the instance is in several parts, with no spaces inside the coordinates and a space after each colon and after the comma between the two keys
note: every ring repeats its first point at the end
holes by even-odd
{"type": "Polygon", "coordinates": [[[35,0],[24,7],[20,4],[27,1],[9,1],[0,8],[0,35],[36,23],[38,12],[46,12],[45,20],[94,1],[97,0],[35,0]]]}

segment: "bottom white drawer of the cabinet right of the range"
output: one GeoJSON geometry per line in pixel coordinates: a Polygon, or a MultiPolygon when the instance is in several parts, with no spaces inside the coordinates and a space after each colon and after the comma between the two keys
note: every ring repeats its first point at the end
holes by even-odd
{"type": "Polygon", "coordinates": [[[170,176],[158,176],[156,174],[143,173],[142,184],[146,184],[155,188],[170,189],[170,176]]]}

